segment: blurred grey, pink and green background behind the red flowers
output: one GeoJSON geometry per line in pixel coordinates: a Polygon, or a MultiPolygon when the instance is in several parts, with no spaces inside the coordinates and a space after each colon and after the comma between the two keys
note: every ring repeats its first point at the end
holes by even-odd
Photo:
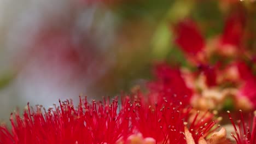
{"type": "MultiPolygon", "coordinates": [[[[0,0],[0,119],[16,106],[129,92],[152,76],[152,65],[186,65],[171,26],[193,17],[206,38],[222,33],[238,0],[0,0]]],[[[255,48],[255,41],[249,46],[255,48]]]]}

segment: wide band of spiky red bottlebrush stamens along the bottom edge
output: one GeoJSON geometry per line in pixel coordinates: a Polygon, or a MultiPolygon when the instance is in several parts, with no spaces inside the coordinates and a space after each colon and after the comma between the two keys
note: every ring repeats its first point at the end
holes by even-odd
{"type": "Polygon", "coordinates": [[[30,105],[23,115],[11,114],[11,130],[0,127],[1,143],[206,143],[226,141],[225,130],[214,133],[220,118],[195,111],[173,95],[137,92],[110,101],[80,97],[59,101],[48,110],[30,105]]]}

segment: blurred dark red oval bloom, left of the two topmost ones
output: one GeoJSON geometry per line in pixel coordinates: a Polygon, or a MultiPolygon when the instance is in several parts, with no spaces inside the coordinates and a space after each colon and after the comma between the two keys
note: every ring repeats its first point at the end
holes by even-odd
{"type": "Polygon", "coordinates": [[[205,39],[203,38],[199,28],[192,20],[183,20],[174,27],[176,33],[175,43],[187,53],[187,55],[195,56],[205,47],[205,39]]]}

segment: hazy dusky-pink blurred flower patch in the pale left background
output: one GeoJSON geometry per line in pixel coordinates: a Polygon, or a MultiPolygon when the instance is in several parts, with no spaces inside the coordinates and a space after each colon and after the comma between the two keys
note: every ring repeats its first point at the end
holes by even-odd
{"type": "MultiPolygon", "coordinates": [[[[51,68],[62,70],[72,70],[74,73],[86,70],[90,62],[96,57],[95,45],[89,40],[74,40],[75,37],[70,32],[51,31],[42,33],[33,41],[27,59],[35,59],[38,65],[51,65],[51,68]],[[90,53],[90,54],[89,54],[90,53]]],[[[78,75],[78,74],[77,74],[78,75]]]]}

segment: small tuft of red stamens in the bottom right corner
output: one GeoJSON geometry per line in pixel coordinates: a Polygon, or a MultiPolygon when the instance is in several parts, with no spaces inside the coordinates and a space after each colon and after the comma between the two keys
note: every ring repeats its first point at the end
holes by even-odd
{"type": "Polygon", "coordinates": [[[256,111],[254,111],[253,118],[250,117],[249,122],[246,123],[243,118],[243,113],[240,110],[241,119],[237,121],[237,126],[228,111],[229,119],[235,129],[235,133],[231,136],[234,137],[237,144],[254,144],[256,143],[256,111]]]}

